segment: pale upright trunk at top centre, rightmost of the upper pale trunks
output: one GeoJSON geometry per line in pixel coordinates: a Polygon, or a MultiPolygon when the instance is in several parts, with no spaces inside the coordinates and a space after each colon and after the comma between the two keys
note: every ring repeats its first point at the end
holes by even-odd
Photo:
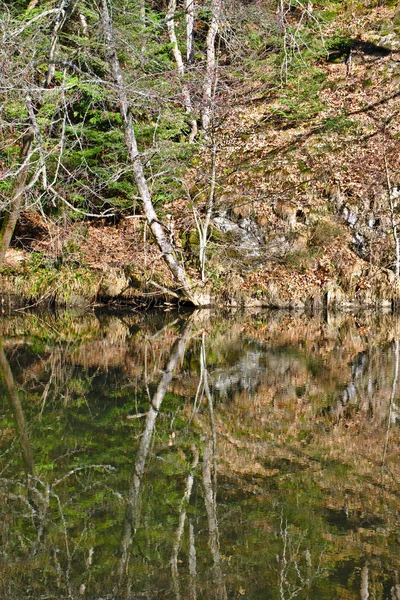
{"type": "Polygon", "coordinates": [[[211,4],[211,23],[207,33],[206,48],[207,48],[207,63],[206,76],[203,88],[203,113],[202,126],[205,136],[208,136],[211,121],[212,121],[212,102],[215,89],[215,81],[217,76],[217,58],[215,52],[215,39],[219,29],[219,20],[221,15],[221,0],[212,0],[211,4]]]}

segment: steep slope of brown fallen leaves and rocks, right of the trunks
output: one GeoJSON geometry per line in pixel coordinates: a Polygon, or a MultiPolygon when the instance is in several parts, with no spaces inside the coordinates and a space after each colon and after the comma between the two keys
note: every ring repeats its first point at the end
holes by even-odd
{"type": "Polygon", "coordinates": [[[214,226],[234,243],[212,262],[256,301],[398,293],[400,12],[353,6],[324,30],[326,56],[244,88],[221,126],[214,226]]]}

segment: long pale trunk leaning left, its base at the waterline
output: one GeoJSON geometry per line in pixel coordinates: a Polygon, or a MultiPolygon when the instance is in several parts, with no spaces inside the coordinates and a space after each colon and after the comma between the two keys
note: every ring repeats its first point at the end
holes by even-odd
{"type": "Polygon", "coordinates": [[[169,242],[163,225],[159,222],[157,213],[154,210],[151,194],[144,174],[143,164],[137,147],[135,131],[133,129],[132,114],[128,97],[125,91],[125,82],[122,75],[121,65],[118,59],[114,43],[114,34],[112,22],[110,19],[107,0],[103,0],[103,28],[105,37],[106,58],[110,65],[111,74],[114,79],[114,89],[117,94],[120,113],[122,117],[122,126],[125,134],[125,146],[128,151],[135,182],[142,201],[143,211],[150,227],[150,230],[162,252],[162,257],[167,263],[176,283],[180,287],[180,293],[183,297],[190,300],[195,306],[205,304],[201,294],[194,292],[185,270],[179,264],[174,254],[174,249],[169,242]]]}

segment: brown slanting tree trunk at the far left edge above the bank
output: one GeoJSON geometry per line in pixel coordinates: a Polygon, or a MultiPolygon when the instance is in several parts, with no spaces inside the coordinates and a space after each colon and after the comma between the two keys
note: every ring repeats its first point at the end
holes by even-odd
{"type": "Polygon", "coordinates": [[[10,212],[6,213],[0,230],[0,265],[3,263],[6,252],[10,246],[15,225],[17,224],[17,220],[19,217],[19,211],[21,209],[22,198],[25,190],[26,178],[28,176],[29,171],[29,153],[32,146],[33,138],[34,132],[31,128],[22,138],[22,147],[20,155],[22,164],[19,168],[19,172],[15,180],[15,189],[13,191],[13,196],[11,200],[10,212]]]}

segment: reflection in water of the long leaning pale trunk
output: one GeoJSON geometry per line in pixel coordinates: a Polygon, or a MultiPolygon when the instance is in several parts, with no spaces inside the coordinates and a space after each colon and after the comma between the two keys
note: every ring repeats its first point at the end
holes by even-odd
{"type": "Polygon", "coordinates": [[[129,560],[129,550],[132,544],[132,538],[135,534],[138,508],[140,501],[140,491],[144,468],[146,464],[147,455],[150,448],[151,438],[153,436],[154,426],[156,423],[157,415],[161,407],[161,403],[171,383],[172,376],[175,369],[178,366],[179,361],[182,359],[186,344],[189,340],[191,332],[190,323],[185,327],[185,330],[180,338],[178,338],[172,348],[171,355],[165,371],[158,384],[157,390],[150,402],[149,411],[146,417],[146,424],[142,438],[140,440],[139,449],[136,455],[136,461],[134,466],[133,477],[129,489],[125,519],[122,531],[122,538],[120,543],[120,563],[119,563],[119,585],[122,585],[122,580],[126,572],[129,560]]]}

